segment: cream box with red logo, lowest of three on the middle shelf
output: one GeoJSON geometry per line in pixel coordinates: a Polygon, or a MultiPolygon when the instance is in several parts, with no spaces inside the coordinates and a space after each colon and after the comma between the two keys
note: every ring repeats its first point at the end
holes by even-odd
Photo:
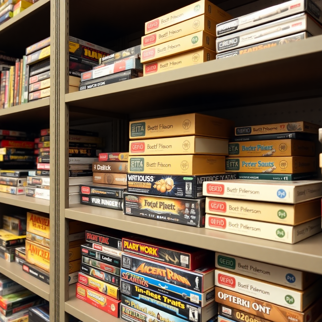
{"type": "Polygon", "coordinates": [[[205,227],[243,236],[295,244],[321,232],[321,218],[297,226],[206,214],[205,227]]]}

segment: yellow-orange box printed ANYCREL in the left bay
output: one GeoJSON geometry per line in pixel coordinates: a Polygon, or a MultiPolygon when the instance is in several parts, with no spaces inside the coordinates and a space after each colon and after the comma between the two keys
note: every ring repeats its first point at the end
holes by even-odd
{"type": "Polygon", "coordinates": [[[26,240],[26,261],[49,272],[49,248],[26,240]]]}

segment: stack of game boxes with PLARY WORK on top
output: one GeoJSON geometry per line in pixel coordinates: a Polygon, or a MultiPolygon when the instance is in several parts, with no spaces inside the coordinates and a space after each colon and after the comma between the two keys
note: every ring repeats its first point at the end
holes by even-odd
{"type": "Polygon", "coordinates": [[[146,321],[206,322],[217,315],[213,252],[137,235],[123,236],[122,250],[123,320],[144,314],[146,321]]]}

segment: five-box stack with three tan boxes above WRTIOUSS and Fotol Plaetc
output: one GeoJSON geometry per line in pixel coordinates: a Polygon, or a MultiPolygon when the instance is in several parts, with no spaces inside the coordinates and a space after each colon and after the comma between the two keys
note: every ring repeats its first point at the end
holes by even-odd
{"type": "Polygon", "coordinates": [[[232,122],[184,114],[130,122],[124,213],[204,227],[203,181],[225,175],[232,122]]]}

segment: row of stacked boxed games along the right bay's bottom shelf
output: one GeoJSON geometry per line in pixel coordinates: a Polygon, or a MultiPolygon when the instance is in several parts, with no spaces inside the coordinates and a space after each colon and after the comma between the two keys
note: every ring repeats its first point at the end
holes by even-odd
{"type": "Polygon", "coordinates": [[[221,315],[237,321],[242,318],[231,307],[251,313],[253,321],[321,315],[317,274],[120,231],[87,231],[86,242],[76,297],[126,321],[155,315],[206,322],[218,303],[228,306],[219,306],[221,315]],[[209,268],[200,269],[205,264],[209,268]]]}

